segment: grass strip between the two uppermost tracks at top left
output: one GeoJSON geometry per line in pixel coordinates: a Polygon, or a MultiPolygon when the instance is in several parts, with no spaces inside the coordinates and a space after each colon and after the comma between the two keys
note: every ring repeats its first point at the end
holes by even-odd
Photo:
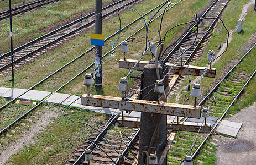
{"type": "MultiPolygon", "coordinates": [[[[103,0],[102,3],[109,0],[103,0]]],[[[6,2],[6,1],[4,1],[6,2]]],[[[45,5],[44,8],[36,9],[22,15],[15,15],[12,18],[13,46],[14,48],[27,43],[28,40],[42,36],[45,32],[40,31],[45,27],[58,23],[58,21],[78,14],[81,11],[91,9],[95,1],[58,1],[45,5]],[[25,39],[25,40],[24,40],[25,39]]],[[[85,16],[85,15],[83,15],[85,16]]],[[[9,19],[1,21],[0,24],[0,54],[10,51],[9,19]]]]}

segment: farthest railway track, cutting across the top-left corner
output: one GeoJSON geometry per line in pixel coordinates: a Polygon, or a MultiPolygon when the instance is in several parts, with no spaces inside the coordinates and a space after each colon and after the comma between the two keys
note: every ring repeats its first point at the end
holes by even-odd
{"type": "MultiPolygon", "coordinates": [[[[39,7],[43,7],[46,4],[56,3],[58,1],[59,0],[40,0],[40,1],[35,1],[35,2],[32,2],[32,3],[24,4],[24,5],[21,5],[17,8],[13,8],[12,9],[12,15],[22,14],[22,13],[28,12],[30,10],[34,10],[36,8],[39,8],[39,7]]],[[[0,13],[0,21],[3,20],[3,19],[9,18],[9,17],[10,17],[9,10],[5,10],[5,11],[0,13]]]]}

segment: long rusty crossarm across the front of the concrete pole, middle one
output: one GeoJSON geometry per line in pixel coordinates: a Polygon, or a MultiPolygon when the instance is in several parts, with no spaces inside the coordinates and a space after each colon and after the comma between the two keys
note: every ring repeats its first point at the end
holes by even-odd
{"type": "Polygon", "coordinates": [[[123,111],[137,111],[147,113],[168,114],[173,116],[200,118],[201,107],[180,105],[175,103],[154,103],[148,100],[122,100],[121,97],[84,94],[82,105],[121,109],[123,111]]]}

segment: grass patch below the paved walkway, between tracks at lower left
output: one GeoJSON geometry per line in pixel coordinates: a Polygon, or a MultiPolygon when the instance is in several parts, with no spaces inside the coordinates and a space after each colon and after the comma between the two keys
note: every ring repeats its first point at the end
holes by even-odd
{"type": "MultiPolygon", "coordinates": [[[[59,109],[63,110],[61,107],[59,109]]],[[[101,125],[99,123],[105,121],[106,114],[70,108],[67,109],[66,116],[97,128],[101,125]]],[[[92,131],[86,125],[70,122],[62,116],[51,120],[52,123],[36,137],[37,140],[33,144],[24,146],[8,163],[62,164],[63,157],[69,157],[92,131]]]]}

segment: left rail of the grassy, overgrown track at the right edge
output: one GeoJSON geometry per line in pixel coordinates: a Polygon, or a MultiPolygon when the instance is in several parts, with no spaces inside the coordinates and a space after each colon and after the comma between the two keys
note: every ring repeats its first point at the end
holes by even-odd
{"type": "Polygon", "coordinates": [[[255,45],[256,45],[256,43],[254,43],[254,45],[250,48],[250,50],[249,50],[247,53],[244,54],[244,56],[237,62],[236,65],[234,65],[234,67],[233,67],[231,70],[229,70],[229,72],[221,79],[221,81],[220,81],[215,87],[213,87],[213,89],[205,96],[205,98],[203,98],[203,100],[198,104],[198,106],[202,106],[203,103],[205,103],[205,102],[207,101],[207,99],[212,95],[212,93],[217,90],[218,86],[221,85],[221,82],[222,82],[224,79],[228,78],[229,74],[230,74],[231,72],[233,72],[233,70],[237,67],[237,65],[243,61],[243,59],[244,59],[244,58],[247,56],[247,54],[254,48],[255,45]]]}

